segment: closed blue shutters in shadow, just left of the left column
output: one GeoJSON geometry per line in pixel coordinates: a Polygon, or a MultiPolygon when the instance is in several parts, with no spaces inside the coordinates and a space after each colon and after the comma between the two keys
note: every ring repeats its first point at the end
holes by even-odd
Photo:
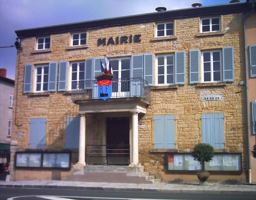
{"type": "Polygon", "coordinates": [[[79,148],[80,118],[67,117],[65,148],[79,148]]]}

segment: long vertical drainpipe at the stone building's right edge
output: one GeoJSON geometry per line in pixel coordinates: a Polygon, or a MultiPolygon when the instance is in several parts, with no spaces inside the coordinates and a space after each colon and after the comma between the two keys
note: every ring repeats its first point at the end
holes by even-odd
{"type": "Polygon", "coordinates": [[[247,144],[248,144],[248,182],[252,182],[252,169],[250,166],[250,105],[249,105],[249,88],[248,88],[248,60],[247,60],[247,46],[246,46],[246,37],[245,37],[245,13],[243,13],[243,37],[244,37],[244,43],[245,43],[245,87],[246,87],[246,114],[247,114],[247,144]]]}

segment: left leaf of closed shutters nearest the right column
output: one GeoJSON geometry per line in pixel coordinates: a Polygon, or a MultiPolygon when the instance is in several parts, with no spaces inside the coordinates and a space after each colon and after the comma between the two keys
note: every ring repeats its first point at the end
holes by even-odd
{"type": "Polygon", "coordinates": [[[165,116],[154,116],[154,148],[164,148],[165,116]]]}

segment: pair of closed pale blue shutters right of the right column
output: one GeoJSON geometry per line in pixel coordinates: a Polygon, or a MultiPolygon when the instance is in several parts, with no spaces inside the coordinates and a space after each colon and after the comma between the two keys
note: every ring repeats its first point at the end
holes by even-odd
{"type": "Polygon", "coordinates": [[[175,148],[175,115],[154,116],[154,148],[175,148]]]}

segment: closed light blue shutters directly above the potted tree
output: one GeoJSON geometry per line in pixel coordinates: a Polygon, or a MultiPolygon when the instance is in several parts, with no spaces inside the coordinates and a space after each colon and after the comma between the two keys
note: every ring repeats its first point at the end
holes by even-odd
{"type": "Polygon", "coordinates": [[[215,149],[224,148],[223,113],[202,113],[202,143],[211,144],[215,149]]]}

